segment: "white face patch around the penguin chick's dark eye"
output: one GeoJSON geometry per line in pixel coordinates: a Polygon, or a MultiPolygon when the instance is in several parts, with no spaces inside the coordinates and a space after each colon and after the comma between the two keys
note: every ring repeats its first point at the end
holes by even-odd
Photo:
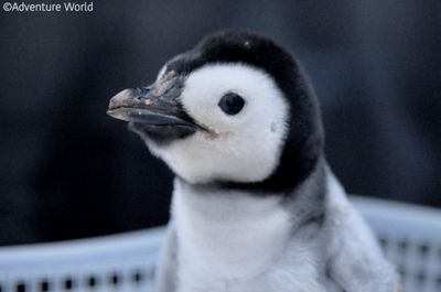
{"type": "Polygon", "coordinates": [[[273,172],[288,130],[288,104],[265,72],[243,64],[205,65],[187,77],[181,101],[211,132],[165,147],[148,142],[178,175],[191,183],[259,182],[273,172]],[[218,106],[228,93],[245,100],[237,115],[218,106]]]}

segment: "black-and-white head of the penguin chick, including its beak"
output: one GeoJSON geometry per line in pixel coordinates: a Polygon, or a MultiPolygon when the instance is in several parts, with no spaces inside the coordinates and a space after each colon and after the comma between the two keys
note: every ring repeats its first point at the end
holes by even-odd
{"type": "Polygon", "coordinates": [[[298,64],[249,32],[208,35],[152,85],[112,97],[108,113],[194,184],[286,191],[322,154],[319,108],[298,64]]]}

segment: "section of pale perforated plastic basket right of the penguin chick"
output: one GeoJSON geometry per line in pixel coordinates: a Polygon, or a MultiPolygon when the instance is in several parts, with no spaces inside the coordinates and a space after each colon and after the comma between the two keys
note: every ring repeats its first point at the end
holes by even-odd
{"type": "Polygon", "coordinates": [[[401,274],[405,292],[441,292],[441,210],[351,197],[401,274]]]}

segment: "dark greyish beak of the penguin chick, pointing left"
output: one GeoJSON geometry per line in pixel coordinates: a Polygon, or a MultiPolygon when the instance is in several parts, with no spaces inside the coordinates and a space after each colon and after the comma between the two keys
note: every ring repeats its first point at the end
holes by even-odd
{"type": "Polygon", "coordinates": [[[114,96],[107,113],[129,121],[136,131],[184,137],[202,129],[185,112],[180,96],[183,80],[173,73],[165,74],[149,87],[125,89],[114,96]]]}

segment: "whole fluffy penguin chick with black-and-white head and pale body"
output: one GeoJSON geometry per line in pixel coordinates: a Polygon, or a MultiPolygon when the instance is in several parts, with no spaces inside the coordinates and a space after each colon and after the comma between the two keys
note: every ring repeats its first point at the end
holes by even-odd
{"type": "Polygon", "coordinates": [[[269,39],[208,35],[108,113],[176,176],[157,292],[398,291],[326,164],[313,89],[269,39]]]}

